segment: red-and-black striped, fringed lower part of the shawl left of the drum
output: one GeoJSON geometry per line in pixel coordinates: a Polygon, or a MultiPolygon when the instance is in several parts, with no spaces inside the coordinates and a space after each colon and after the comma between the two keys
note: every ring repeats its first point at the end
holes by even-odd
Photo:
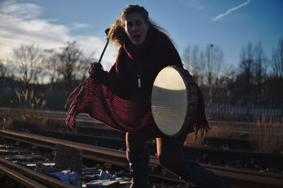
{"type": "Polygon", "coordinates": [[[67,103],[72,102],[66,121],[75,132],[75,118],[79,113],[87,113],[91,118],[122,132],[137,132],[154,124],[148,98],[134,95],[131,99],[122,99],[104,84],[96,84],[92,77],[88,77],[77,89],[69,96],[67,103]],[[80,87],[79,94],[74,96],[80,87]]]}

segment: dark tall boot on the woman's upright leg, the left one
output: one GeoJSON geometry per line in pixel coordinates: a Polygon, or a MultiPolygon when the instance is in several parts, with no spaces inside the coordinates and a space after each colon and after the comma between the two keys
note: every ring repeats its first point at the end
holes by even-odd
{"type": "Polygon", "coordinates": [[[144,149],[141,153],[129,153],[127,150],[127,159],[129,161],[129,173],[132,176],[130,188],[147,187],[149,179],[149,151],[144,149]]]}

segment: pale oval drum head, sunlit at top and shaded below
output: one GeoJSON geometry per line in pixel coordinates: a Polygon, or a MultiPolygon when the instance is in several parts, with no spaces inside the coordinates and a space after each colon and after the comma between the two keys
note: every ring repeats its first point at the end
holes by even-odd
{"type": "Polygon", "coordinates": [[[177,68],[168,66],[158,73],[151,94],[151,111],[159,130],[177,134],[187,114],[187,87],[177,68]]]}

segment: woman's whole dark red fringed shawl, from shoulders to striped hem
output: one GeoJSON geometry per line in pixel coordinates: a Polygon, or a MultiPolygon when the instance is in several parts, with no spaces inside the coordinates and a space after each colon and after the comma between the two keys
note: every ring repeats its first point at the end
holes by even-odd
{"type": "MultiPolygon", "coordinates": [[[[156,126],[151,113],[151,89],[156,75],[168,65],[183,68],[175,46],[158,30],[149,29],[146,41],[139,49],[126,41],[108,73],[100,76],[90,74],[70,94],[66,124],[76,132],[76,115],[87,113],[122,132],[138,132],[156,126]],[[141,75],[141,88],[137,87],[137,75],[141,75]],[[79,94],[76,94],[77,91],[79,94]]],[[[209,130],[199,87],[197,92],[199,105],[194,124],[195,136],[198,131],[203,134],[209,130]]]]}

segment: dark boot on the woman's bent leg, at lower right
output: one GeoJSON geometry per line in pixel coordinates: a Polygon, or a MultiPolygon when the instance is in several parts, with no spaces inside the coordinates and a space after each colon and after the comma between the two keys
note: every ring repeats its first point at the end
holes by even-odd
{"type": "Polygon", "coordinates": [[[180,179],[203,188],[232,188],[224,179],[192,160],[185,162],[180,179]]]}

